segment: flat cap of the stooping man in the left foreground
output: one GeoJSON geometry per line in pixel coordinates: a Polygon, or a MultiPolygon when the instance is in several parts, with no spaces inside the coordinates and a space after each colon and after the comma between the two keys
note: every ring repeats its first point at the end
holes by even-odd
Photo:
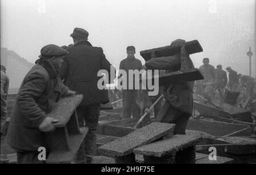
{"type": "Polygon", "coordinates": [[[68,51],[54,44],[49,44],[41,49],[41,56],[53,57],[53,56],[64,56],[68,51]]]}

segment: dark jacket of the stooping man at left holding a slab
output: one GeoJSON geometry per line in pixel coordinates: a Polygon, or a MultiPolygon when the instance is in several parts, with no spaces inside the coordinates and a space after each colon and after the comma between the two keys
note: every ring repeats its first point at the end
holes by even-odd
{"type": "Polygon", "coordinates": [[[38,129],[53,106],[68,91],[46,61],[36,64],[23,79],[10,117],[6,141],[16,151],[38,151],[46,133],[38,129]]]}

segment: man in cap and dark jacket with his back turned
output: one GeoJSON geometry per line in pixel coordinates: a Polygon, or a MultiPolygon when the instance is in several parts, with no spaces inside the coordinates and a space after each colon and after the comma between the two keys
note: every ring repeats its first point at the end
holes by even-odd
{"type": "MultiPolygon", "coordinates": [[[[96,153],[96,132],[98,125],[98,117],[100,116],[100,104],[109,102],[108,90],[99,89],[97,82],[101,78],[97,76],[98,71],[106,70],[109,72],[114,67],[106,59],[102,48],[94,47],[88,41],[89,33],[82,28],[75,28],[70,35],[74,45],[68,46],[68,54],[63,58],[63,65],[60,69],[60,76],[64,79],[64,84],[73,91],[84,95],[77,108],[77,117],[80,125],[89,127],[89,131],[85,136],[75,163],[91,163],[92,157],[96,153]],[[84,152],[85,157],[81,156],[84,152]],[[80,156],[78,156],[80,154],[80,156]],[[82,157],[82,159],[79,159],[82,157]],[[84,159],[85,158],[85,159],[84,159]]],[[[113,80],[110,79],[109,82],[113,80]]]]}

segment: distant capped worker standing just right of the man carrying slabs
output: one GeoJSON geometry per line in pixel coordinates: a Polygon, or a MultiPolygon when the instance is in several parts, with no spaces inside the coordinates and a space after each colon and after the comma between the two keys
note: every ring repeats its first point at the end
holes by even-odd
{"type": "Polygon", "coordinates": [[[201,74],[204,76],[204,79],[200,80],[201,93],[205,99],[212,102],[214,96],[215,69],[209,64],[209,58],[204,58],[203,63],[204,65],[199,67],[201,74]]]}

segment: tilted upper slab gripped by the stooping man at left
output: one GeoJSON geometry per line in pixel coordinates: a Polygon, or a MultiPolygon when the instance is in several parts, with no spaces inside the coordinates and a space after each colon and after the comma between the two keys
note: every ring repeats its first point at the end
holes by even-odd
{"type": "Polygon", "coordinates": [[[56,127],[64,127],[72,116],[76,107],[81,103],[83,95],[64,97],[54,106],[48,117],[59,119],[56,127]]]}

